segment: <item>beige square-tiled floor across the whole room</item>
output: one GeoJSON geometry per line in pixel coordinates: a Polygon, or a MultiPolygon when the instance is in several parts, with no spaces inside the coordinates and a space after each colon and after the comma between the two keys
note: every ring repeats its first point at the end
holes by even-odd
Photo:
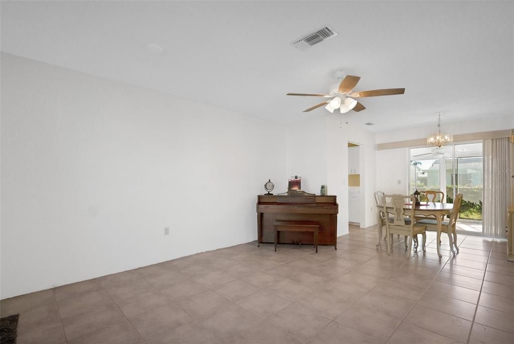
{"type": "Polygon", "coordinates": [[[505,241],[458,236],[443,259],[376,229],[338,250],[247,243],[2,300],[24,343],[513,343],[505,241]]]}

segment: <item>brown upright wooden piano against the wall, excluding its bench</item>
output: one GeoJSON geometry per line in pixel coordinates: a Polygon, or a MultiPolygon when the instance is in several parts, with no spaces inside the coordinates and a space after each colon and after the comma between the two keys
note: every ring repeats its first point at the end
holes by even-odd
{"type": "MultiPolygon", "coordinates": [[[[318,244],[334,245],[337,249],[336,196],[318,196],[290,190],[286,194],[257,197],[257,240],[273,243],[273,223],[276,221],[315,221],[319,223],[318,244]]],[[[313,235],[305,232],[281,232],[279,243],[313,244],[313,235]]]]}

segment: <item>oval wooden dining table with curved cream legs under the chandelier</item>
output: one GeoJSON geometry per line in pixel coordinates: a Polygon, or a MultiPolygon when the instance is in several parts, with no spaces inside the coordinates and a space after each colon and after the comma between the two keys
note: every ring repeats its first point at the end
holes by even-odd
{"type": "MultiPolygon", "coordinates": [[[[406,203],[403,206],[404,210],[411,210],[413,207],[412,204],[406,203]]],[[[382,220],[380,216],[380,210],[384,210],[383,205],[377,205],[377,229],[378,229],[378,243],[377,246],[380,245],[380,242],[382,241],[382,227],[386,225],[384,222],[385,220],[382,220]]],[[[430,218],[435,218],[437,221],[437,239],[436,239],[436,246],[437,246],[437,256],[439,256],[439,259],[441,259],[443,256],[440,254],[439,251],[439,243],[440,243],[440,237],[441,237],[441,228],[443,219],[446,215],[449,215],[453,209],[452,203],[439,203],[439,202],[421,202],[419,205],[414,205],[414,216],[427,216],[430,218]]],[[[392,213],[393,205],[392,204],[386,204],[386,210],[390,213],[392,213]],[[389,211],[391,210],[391,211],[389,211]]],[[[387,218],[387,216],[386,216],[387,218]]],[[[454,254],[455,251],[453,250],[453,243],[457,242],[457,233],[453,231],[448,231],[448,239],[450,241],[450,249],[452,253],[454,254]],[[453,234],[453,237],[452,237],[453,234]]]]}

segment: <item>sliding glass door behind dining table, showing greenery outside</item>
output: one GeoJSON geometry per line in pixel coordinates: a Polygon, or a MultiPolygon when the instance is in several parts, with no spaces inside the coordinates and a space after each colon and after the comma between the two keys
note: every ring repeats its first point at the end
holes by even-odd
{"type": "Polygon", "coordinates": [[[442,148],[411,148],[409,192],[443,191],[446,202],[463,194],[458,230],[482,232],[482,141],[442,148]]]}

